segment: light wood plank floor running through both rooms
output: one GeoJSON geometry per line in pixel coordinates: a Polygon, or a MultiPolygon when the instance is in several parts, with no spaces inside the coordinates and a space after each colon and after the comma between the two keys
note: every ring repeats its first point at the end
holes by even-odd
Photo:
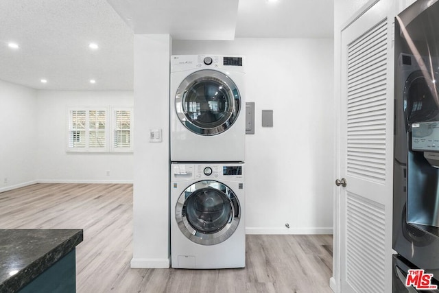
{"type": "Polygon", "coordinates": [[[247,235],[243,269],[131,269],[132,185],[36,184],[5,191],[0,228],[83,228],[79,293],[331,292],[331,235],[247,235]]]}

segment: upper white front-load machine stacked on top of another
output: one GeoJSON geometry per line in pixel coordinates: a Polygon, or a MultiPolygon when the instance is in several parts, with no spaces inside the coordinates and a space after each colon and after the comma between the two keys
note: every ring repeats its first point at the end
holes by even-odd
{"type": "Polygon", "coordinates": [[[171,161],[245,161],[244,62],[171,56],[171,161]]]}

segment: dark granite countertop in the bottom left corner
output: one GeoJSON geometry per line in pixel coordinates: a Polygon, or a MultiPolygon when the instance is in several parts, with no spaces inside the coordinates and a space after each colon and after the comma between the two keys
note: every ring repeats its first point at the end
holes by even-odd
{"type": "Polygon", "coordinates": [[[0,229],[0,293],[20,290],[82,239],[81,229],[0,229]]]}

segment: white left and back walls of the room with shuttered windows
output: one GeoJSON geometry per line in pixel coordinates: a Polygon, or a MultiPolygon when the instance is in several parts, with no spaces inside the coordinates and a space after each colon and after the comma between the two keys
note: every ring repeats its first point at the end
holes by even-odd
{"type": "Polygon", "coordinates": [[[132,153],[68,153],[66,145],[68,106],[133,100],[132,91],[36,91],[0,80],[0,192],[38,182],[132,183],[132,153]]]}

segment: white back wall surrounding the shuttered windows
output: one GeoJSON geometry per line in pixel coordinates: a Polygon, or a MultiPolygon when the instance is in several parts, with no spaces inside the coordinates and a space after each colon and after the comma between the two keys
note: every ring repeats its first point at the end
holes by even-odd
{"type": "Polygon", "coordinates": [[[37,91],[39,182],[132,183],[133,154],[67,150],[67,108],[133,106],[132,91],[37,91]],[[107,171],[110,175],[107,176],[107,171]]]}

